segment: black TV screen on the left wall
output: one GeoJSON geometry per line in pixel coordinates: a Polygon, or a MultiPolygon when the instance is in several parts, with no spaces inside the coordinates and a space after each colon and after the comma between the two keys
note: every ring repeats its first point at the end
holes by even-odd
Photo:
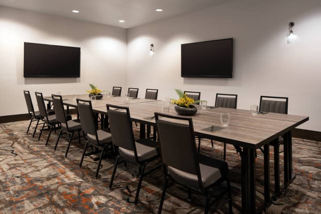
{"type": "Polygon", "coordinates": [[[80,77],[80,48],[25,42],[24,77],[80,77]]]}

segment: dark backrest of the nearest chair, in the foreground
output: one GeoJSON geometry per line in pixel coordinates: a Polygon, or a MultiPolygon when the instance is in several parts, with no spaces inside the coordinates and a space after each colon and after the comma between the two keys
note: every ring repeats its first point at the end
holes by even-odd
{"type": "Polygon", "coordinates": [[[163,163],[183,172],[197,175],[201,187],[201,173],[192,118],[155,113],[155,120],[163,163]]]}

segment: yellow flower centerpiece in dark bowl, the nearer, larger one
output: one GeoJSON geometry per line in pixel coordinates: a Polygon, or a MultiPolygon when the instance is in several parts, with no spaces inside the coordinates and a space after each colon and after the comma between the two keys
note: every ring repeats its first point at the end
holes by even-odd
{"type": "Polygon", "coordinates": [[[176,104],[175,111],[183,116],[195,115],[197,113],[197,108],[193,105],[195,100],[188,97],[187,94],[180,89],[175,89],[175,91],[180,97],[178,100],[174,100],[174,103],[176,104]]]}

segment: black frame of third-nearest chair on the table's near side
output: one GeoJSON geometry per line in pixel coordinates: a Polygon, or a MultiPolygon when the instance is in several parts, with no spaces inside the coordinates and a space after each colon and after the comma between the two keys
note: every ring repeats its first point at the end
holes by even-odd
{"type": "MultiPolygon", "coordinates": [[[[79,99],[79,98],[77,98],[76,100],[77,100],[77,106],[78,106],[79,102],[82,102],[82,103],[84,103],[84,104],[88,104],[88,105],[89,105],[89,108],[91,109],[91,112],[92,112],[93,120],[95,120],[95,117],[96,117],[96,116],[95,116],[95,114],[94,114],[93,111],[92,111],[91,101],[90,101],[90,100],[86,100],[86,99],[79,99]]],[[[80,117],[80,121],[81,121],[81,117],[80,117]]],[[[96,174],[95,174],[95,178],[97,179],[97,178],[98,178],[98,174],[99,174],[99,169],[100,169],[100,165],[101,165],[102,158],[104,157],[104,154],[108,154],[108,146],[111,145],[111,144],[110,144],[110,143],[107,143],[107,144],[105,144],[105,145],[100,144],[100,143],[99,143],[99,140],[98,140],[96,125],[95,125],[94,127],[95,127],[95,133],[96,133],[96,144],[91,143],[91,142],[86,138],[86,135],[85,135],[85,133],[83,132],[83,137],[84,137],[84,139],[86,140],[86,145],[85,145],[84,152],[83,152],[82,157],[81,157],[81,160],[80,160],[79,168],[81,168],[81,166],[82,166],[82,163],[83,163],[83,161],[84,161],[84,157],[85,157],[86,150],[87,150],[88,146],[92,146],[92,147],[95,147],[95,148],[97,148],[97,149],[101,149],[100,158],[99,158],[99,162],[98,162],[98,166],[97,166],[96,174]]]]}

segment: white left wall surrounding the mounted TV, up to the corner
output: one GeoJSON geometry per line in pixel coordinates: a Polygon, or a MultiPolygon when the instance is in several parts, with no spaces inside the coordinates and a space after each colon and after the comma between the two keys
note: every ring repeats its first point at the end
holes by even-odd
{"type": "Polygon", "coordinates": [[[125,29],[0,7],[0,116],[27,113],[24,89],[83,94],[88,83],[126,86],[125,29]],[[24,42],[80,47],[80,78],[24,78],[24,42]]]}

